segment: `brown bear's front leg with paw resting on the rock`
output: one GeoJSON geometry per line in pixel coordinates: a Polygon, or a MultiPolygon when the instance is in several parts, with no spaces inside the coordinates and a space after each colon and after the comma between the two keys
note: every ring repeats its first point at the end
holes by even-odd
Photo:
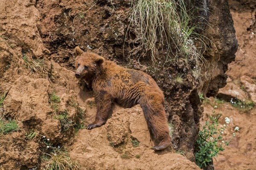
{"type": "Polygon", "coordinates": [[[104,125],[107,122],[108,114],[111,111],[112,101],[109,94],[96,96],[95,100],[97,113],[94,122],[87,126],[87,129],[89,130],[104,125]]]}

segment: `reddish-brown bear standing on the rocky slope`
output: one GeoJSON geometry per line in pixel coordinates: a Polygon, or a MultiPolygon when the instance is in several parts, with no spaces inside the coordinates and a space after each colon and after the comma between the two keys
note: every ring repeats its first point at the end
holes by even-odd
{"type": "Polygon", "coordinates": [[[123,68],[112,61],[79,47],[76,52],[76,78],[84,79],[95,96],[97,113],[87,129],[104,125],[113,102],[124,108],[140,104],[148,125],[154,150],[163,150],[171,144],[164,110],[163,92],[148,74],[123,68]]]}

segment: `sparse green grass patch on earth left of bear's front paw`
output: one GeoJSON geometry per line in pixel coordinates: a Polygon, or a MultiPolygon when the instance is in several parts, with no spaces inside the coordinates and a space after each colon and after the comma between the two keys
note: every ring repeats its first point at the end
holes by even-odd
{"type": "Polygon", "coordinates": [[[53,116],[54,119],[57,119],[61,122],[61,128],[63,131],[67,131],[74,125],[73,120],[68,116],[67,110],[59,113],[58,115],[53,116]]]}

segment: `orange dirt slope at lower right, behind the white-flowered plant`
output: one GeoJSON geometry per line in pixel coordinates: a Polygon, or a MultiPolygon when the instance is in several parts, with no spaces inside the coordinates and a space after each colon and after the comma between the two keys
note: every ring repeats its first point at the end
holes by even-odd
{"type": "Polygon", "coordinates": [[[254,108],[250,113],[244,113],[230,103],[218,104],[211,98],[203,105],[204,114],[200,120],[202,125],[209,121],[215,105],[218,107],[215,109],[215,116],[221,114],[220,127],[225,124],[225,117],[230,119],[230,125],[224,132],[223,140],[228,141],[233,135],[234,128],[239,127],[239,132],[236,133],[230,145],[213,159],[215,170],[254,170],[256,168],[256,109],[254,108]]]}

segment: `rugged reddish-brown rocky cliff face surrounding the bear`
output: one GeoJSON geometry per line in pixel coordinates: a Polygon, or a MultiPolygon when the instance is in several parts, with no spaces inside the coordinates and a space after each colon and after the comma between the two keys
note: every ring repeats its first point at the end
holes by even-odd
{"type": "MultiPolygon", "coordinates": [[[[213,43],[209,43],[211,50],[208,49],[204,56],[208,63],[204,70],[207,77],[201,88],[204,94],[213,96],[217,94],[218,88],[226,83],[225,71],[227,71],[227,64],[235,57],[237,42],[227,1],[203,2],[193,1],[193,8],[203,6],[206,9],[207,13],[202,12],[198,15],[209,20],[210,27],[206,25],[202,33],[213,43]]],[[[106,0],[93,3],[83,0],[3,2],[1,10],[3,9],[4,12],[0,14],[0,58],[3,61],[0,64],[0,90],[7,93],[6,109],[3,113],[6,118],[16,119],[21,128],[18,132],[0,136],[1,141],[4,141],[0,145],[1,165],[17,169],[40,166],[39,150],[45,149],[41,144],[41,137],[44,135],[49,137],[53,145],[68,144],[71,156],[81,161],[84,168],[93,167],[96,163],[114,162],[115,159],[111,159],[112,153],[115,158],[126,153],[130,159],[118,159],[113,168],[129,161],[144,164],[147,160],[159,161],[175,156],[169,153],[170,150],[159,153],[150,150],[150,138],[148,131],[144,128],[145,120],[140,107],[132,108],[131,115],[127,114],[131,110],[122,110],[125,112],[122,114],[116,112],[113,118],[108,120],[107,125],[93,131],[81,130],[78,136],[74,136],[74,127],[67,132],[62,131],[63,127],[59,120],[54,119],[55,111],[49,102],[49,96],[53,91],[61,96],[59,111],[68,111],[70,119],[74,122],[79,110],[69,104],[71,100],[76,103],[76,106],[87,111],[84,117],[85,125],[90,123],[95,115],[94,106],[92,105],[91,108],[85,102],[92,97],[92,93],[86,91],[83,82],[78,82],[73,76],[75,59],[73,49],[77,45],[84,51],[93,51],[106,59],[116,61],[119,65],[150,74],[166,97],[166,116],[173,127],[173,147],[183,150],[189,160],[195,161],[193,149],[202,109],[198,96],[199,85],[192,76],[191,65],[179,59],[178,62],[168,62],[156,69],[151,68],[151,57],[144,48],[138,47],[140,37],[136,37],[134,28],[129,27],[130,21],[127,17],[130,5],[131,2],[128,0],[106,0]],[[128,37],[127,31],[129,31],[128,37]],[[145,56],[140,57],[143,54],[145,56]],[[25,58],[30,61],[44,59],[44,71],[40,73],[33,68],[32,72],[29,71],[25,58]],[[182,84],[175,82],[177,74],[186,75],[182,84]],[[132,122],[138,115],[140,115],[141,125],[139,125],[140,122],[132,122]],[[122,127],[121,122],[124,120],[125,126],[122,127]],[[129,123],[128,120],[131,122],[129,123]],[[143,130],[140,130],[141,128],[143,130]],[[31,129],[38,132],[33,142],[25,139],[25,133],[31,129]],[[122,132],[122,136],[117,135],[118,129],[122,132]],[[108,131],[113,139],[106,139],[108,131]],[[142,137],[138,132],[143,134],[142,137]],[[12,144],[6,141],[6,136],[9,136],[12,144]],[[101,136],[100,139],[107,140],[106,145],[111,141],[117,142],[116,147],[103,146],[104,150],[99,153],[102,146],[84,144],[81,141],[84,139],[82,136],[86,136],[85,139],[90,136],[101,136]],[[131,146],[131,136],[142,142],[139,148],[131,146]],[[121,139],[123,141],[120,142],[121,139]],[[120,143],[126,144],[120,145],[120,143]],[[31,147],[34,149],[25,152],[31,147]],[[79,147],[84,150],[77,150],[76,148],[79,147]],[[17,156],[16,153],[23,153],[24,156],[17,156]],[[140,160],[134,158],[136,154],[142,156],[140,160]],[[95,155],[99,155],[102,159],[96,159],[95,155]],[[144,156],[145,159],[143,159],[144,156]],[[88,162],[83,163],[81,158],[87,159],[88,162]],[[32,163],[27,163],[27,159],[32,163]]],[[[157,57],[158,62],[162,62],[165,52],[162,47],[157,57]]],[[[177,160],[180,159],[183,160],[177,156],[177,160]]],[[[170,160],[170,164],[175,162],[176,160],[170,160]]],[[[195,166],[185,159],[179,162],[178,164],[184,164],[184,166],[195,166]]],[[[110,167],[107,165],[106,168],[110,167]]],[[[154,164],[148,164],[148,168],[154,166],[154,164]]],[[[167,164],[163,164],[159,168],[166,166],[167,164]]]]}

